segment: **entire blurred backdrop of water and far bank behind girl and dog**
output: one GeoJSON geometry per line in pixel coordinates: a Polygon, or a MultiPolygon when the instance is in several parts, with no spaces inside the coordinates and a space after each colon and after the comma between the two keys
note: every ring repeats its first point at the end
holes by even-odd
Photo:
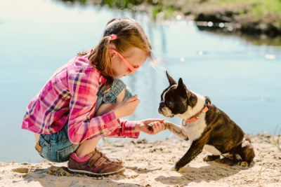
{"type": "MultiPolygon", "coordinates": [[[[108,20],[122,15],[141,23],[161,66],[176,81],[183,78],[190,90],[210,97],[244,132],[277,133],[280,13],[280,0],[0,0],[0,162],[41,160],[32,132],[20,129],[27,104],[56,69],[96,46],[108,20]]],[[[126,119],[180,124],[180,118],[157,111],[169,85],[163,69],[146,63],[122,80],[141,99],[126,119]]],[[[132,139],[108,139],[117,140],[132,139]]]]}

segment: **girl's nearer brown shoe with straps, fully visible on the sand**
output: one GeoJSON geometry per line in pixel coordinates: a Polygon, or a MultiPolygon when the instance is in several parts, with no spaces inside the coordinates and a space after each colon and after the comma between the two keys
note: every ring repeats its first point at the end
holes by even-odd
{"type": "Polygon", "coordinates": [[[71,153],[67,169],[72,174],[86,174],[95,177],[120,174],[125,171],[125,167],[122,165],[109,162],[96,152],[89,153],[84,158],[78,158],[75,153],[71,153]]]}

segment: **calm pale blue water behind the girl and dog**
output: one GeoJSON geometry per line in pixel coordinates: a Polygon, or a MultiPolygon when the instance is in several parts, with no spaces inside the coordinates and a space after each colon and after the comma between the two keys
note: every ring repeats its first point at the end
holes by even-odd
{"type": "MultiPolygon", "coordinates": [[[[244,132],[273,134],[280,125],[280,46],[254,46],[237,36],[201,32],[183,20],[155,23],[143,13],[61,1],[0,0],[0,162],[41,160],[32,132],[20,130],[27,104],[53,71],[77,52],[93,48],[107,20],[121,15],[141,22],[155,55],[165,62],[162,67],[176,81],[183,78],[190,90],[209,96],[244,132]]],[[[136,113],[126,119],[164,118],[179,124],[179,118],[157,112],[162,90],[168,86],[165,72],[157,70],[145,64],[135,75],[123,78],[141,99],[136,113]]],[[[140,138],[161,140],[170,134],[140,138]]]]}

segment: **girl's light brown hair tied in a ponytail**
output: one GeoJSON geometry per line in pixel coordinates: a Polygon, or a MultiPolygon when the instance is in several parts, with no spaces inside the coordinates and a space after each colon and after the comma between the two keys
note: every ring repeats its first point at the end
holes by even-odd
{"type": "MultiPolygon", "coordinates": [[[[119,53],[124,53],[130,48],[139,48],[148,54],[148,59],[153,62],[152,47],[148,36],[146,36],[141,25],[126,16],[122,18],[113,18],[105,27],[103,39],[89,54],[89,61],[93,64],[100,74],[107,79],[107,88],[113,83],[113,73],[111,68],[111,58],[109,53],[110,43],[115,44],[119,53]],[[110,40],[110,34],[115,34],[117,39],[110,40]]],[[[78,53],[78,56],[86,55],[89,51],[78,53]]]]}

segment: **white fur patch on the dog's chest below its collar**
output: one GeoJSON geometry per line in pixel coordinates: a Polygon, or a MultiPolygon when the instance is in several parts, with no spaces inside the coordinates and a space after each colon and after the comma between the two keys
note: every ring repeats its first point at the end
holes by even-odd
{"type": "Polygon", "coordinates": [[[192,144],[192,141],[201,137],[202,133],[204,132],[204,129],[207,127],[207,124],[204,119],[205,114],[200,116],[199,120],[192,123],[188,123],[186,120],[181,121],[181,127],[185,132],[188,133],[190,145],[192,144]]]}

